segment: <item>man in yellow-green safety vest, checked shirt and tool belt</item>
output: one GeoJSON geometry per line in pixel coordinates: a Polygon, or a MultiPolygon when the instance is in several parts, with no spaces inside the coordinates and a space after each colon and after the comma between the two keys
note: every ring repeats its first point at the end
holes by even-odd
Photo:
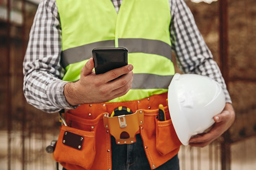
{"type": "Polygon", "coordinates": [[[235,112],[183,0],[40,1],[23,63],[23,91],[29,104],[45,112],[69,109],[69,127],[61,128],[54,151],[63,169],[179,169],[181,143],[170,117],[159,122],[156,112],[159,104],[168,111],[171,49],[184,73],[211,77],[225,93],[226,106],[214,116],[213,128],[189,141],[204,147],[231,126],[235,112]],[[95,75],[91,52],[97,47],[127,48],[129,64],[95,75]],[[104,124],[102,116],[123,106],[144,115],[136,142],[129,144],[111,136],[108,126],[114,125],[104,124]],[[67,146],[63,137],[69,132],[81,135],[78,149],[67,146]]]}

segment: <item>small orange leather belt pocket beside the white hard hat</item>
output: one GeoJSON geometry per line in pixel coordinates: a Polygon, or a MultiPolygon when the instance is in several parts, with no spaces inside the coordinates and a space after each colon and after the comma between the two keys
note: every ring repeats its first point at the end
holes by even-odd
{"type": "Polygon", "coordinates": [[[172,125],[172,120],[158,121],[156,119],[156,150],[161,155],[173,151],[181,145],[172,125]]]}

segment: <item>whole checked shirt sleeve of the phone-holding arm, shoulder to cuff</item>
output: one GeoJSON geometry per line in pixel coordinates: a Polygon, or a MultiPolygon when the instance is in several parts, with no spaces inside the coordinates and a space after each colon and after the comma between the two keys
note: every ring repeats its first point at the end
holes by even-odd
{"type": "Polygon", "coordinates": [[[72,108],[63,94],[67,82],[60,65],[61,29],[56,2],[41,1],[23,61],[23,92],[29,104],[45,112],[72,108]]]}

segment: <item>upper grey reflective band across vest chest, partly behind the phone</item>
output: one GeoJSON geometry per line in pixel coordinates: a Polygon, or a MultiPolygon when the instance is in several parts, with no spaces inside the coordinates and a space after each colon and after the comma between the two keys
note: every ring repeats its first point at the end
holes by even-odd
{"type": "MultiPolygon", "coordinates": [[[[172,47],[159,40],[140,38],[118,39],[119,47],[128,49],[128,53],[147,53],[164,56],[172,60],[172,47]]],[[[115,47],[114,40],[99,41],[62,51],[61,63],[64,68],[69,64],[87,60],[92,57],[93,48],[115,47]]]]}

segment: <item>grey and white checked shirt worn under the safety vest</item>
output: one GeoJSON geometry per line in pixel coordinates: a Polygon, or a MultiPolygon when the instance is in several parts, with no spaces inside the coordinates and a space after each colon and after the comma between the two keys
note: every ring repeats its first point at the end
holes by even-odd
{"type": "MultiPolygon", "coordinates": [[[[226,102],[231,103],[220,69],[183,0],[169,0],[172,50],[180,70],[213,78],[222,85],[226,102]]],[[[122,0],[112,0],[118,12],[122,0]]],[[[60,65],[61,25],[56,0],[41,0],[31,27],[23,62],[23,91],[29,104],[45,112],[72,109],[63,94],[65,74],[60,65]]]]}

